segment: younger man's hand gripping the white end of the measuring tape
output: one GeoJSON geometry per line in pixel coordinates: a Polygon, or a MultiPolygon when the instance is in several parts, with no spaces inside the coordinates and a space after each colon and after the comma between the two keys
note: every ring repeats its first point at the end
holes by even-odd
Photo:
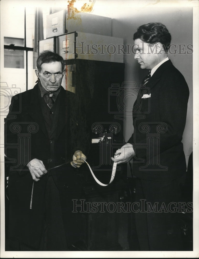
{"type": "Polygon", "coordinates": [[[113,162],[117,162],[118,164],[129,162],[134,157],[135,152],[133,150],[133,146],[130,143],[126,143],[120,149],[115,152],[114,158],[111,157],[113,162]]]}

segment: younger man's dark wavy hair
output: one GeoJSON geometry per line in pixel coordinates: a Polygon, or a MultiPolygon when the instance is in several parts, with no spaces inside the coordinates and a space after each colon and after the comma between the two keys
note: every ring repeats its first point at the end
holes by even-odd
{"type": "Polygon", "coordinates": [[[164,50],[168,52],[171,43],[171,34],[162,23],[147,23],[137,28],[137,32],[133,35],[133,40],[136,39],[141,39],[150,45],[160,42],[164,50]]]}

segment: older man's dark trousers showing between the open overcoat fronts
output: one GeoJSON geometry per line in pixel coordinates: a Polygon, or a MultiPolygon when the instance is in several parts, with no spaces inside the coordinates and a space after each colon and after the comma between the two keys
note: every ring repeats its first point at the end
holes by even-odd
{"type": "MultiPolygon", "coordinates": [[[[66,204],[67,206],[67,204],[66,204]]],[[[52,175],[48,177],[45,192],[45,222],[40,244],[42,251],[67,251],[62,220],[59,190],[52,175]]]]}

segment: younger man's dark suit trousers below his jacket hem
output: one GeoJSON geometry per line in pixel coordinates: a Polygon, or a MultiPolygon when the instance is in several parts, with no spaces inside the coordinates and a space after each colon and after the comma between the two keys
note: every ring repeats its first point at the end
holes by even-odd
{"type": "Polygon", "coordinates": [[[182,180],[183,177],[172,181],[136,179],[136,202],[140,203],[140,211],[135,213],[135,221],[141,251],[183,250],[180,212],[170,212],[175,211],[175,205],[168,206],[181,201],[182,180]],[[158,203],[158,209],[149,209],[147,203],[152,207],[158,203]]]}

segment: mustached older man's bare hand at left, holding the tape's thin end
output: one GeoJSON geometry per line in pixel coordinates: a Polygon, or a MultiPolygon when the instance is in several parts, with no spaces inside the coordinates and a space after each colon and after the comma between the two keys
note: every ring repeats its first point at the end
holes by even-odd
{"type": "Polygon", "coordinates": [[[32,179],[35,182],[39,181],[39,178],[41,178],[44,174],[47,173],[47,170],[43,164],[43,162],[37,158],[32,159],[27,164],[28,169],[30,170],[32,179]]]}

